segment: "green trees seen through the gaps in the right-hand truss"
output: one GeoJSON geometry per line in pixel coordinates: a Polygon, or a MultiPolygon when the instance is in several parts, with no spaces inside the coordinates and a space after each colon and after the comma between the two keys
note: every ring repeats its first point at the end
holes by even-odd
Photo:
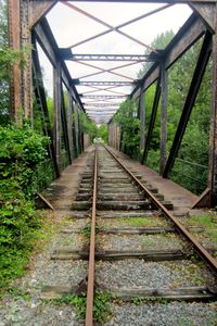
{"type": "MultiPolygon", "coordinates": [[[[171,39],[173,32],[159,35],[152,43],[157,49],[163,49],[171,39]]],[[[167,153],[171,148],[184,101],[189,91],[197,57],[203,39],[191,47],[169,70],[168,70],[168,121],[167,121],[167,153]]],[[[140,77],[150,65],[144,64],[139,73],[140,77]]],[[[178,153],[178,160],[169,175],[173,180],[184,188],[201,193],[207,184],[208,172],[208,137],[210,116],[210,80],[212,61],[209,61],[204,75],[200,92],[197,95],[184,137],[178,153]],[[201,165],[201,166],[200,166],[201,165]]],[[[145,131],[149,129],[149,122],[152,112],[155,85],[145,92],[145,131]]],[[[155,126],[149,149],[146,165],[156,172],[159,171],[159,141],[161,141],[161,102],[157,110],[155,126]]]]}

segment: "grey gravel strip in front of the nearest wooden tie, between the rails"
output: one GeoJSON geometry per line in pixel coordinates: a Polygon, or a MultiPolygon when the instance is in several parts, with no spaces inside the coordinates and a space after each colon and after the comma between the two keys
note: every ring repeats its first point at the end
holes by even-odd
{"type": "Polygon", "coordinates": [[[174,302],[168,304],[112,305],[113,317],[104,326],[215,326],[214,304],[174,302]]]}

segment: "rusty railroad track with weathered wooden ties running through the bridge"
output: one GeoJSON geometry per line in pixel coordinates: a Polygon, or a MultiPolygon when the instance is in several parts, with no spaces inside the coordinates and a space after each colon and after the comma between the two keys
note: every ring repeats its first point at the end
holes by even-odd
{"type": "Polygon", "coordinates": [[[217,262],[171,209],[141,175],[106,147],[95,146],[73,203],[75,216],[91,217],[89,248],[59,250],[52,256],[89,260],[87,326],[94,321],[95,290],[129,302],[216,300],[217,262]]]}

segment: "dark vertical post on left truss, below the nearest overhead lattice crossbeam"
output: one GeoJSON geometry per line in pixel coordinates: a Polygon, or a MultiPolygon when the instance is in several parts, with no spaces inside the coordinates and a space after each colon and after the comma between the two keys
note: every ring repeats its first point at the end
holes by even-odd
{"type": "Polygon", "coordinates": [[[53,106],[54,106],[54,145],[59,166],[61,166],[61,63],[53,67],[53,106]]]}

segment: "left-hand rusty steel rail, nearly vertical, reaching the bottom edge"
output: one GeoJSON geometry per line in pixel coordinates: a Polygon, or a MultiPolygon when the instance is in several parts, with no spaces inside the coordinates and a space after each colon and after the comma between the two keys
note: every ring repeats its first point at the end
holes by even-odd
{"type": "Polygon", "coordinates": [[[91,216],[91,235],[89,251],[89,269],[88,269],[88,288],[86,305],[86,326],[93,325],[93,300],[94,300],[94,255],[95,255],[95,208],[97,208],[97,188],[98,188],[98,156],[94,151],[94,179],[92,196],[92,216],[91,216]]]}

